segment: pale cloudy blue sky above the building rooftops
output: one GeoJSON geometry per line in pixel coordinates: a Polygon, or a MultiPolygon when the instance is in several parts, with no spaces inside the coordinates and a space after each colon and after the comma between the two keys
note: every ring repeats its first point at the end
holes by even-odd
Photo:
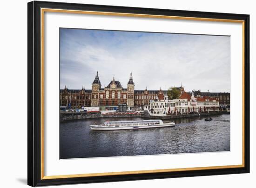
{"type": "Polygon", "coordinates": [[[115,76],[127,88],[172,86],[230,92],[230,38],[172,33],[60,29],[60,86],[91,89],[115,76]]]}

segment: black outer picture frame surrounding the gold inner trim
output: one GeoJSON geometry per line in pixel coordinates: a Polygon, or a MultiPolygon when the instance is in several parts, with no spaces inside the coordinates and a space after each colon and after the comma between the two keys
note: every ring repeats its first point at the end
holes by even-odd
{"type": "Polygon", "coordinates": [[[27,74],[27,184],[30,186],[46,186],[58,184],[74,184],[74,183],[90,183],[90,182],[115,182],[128,180],[145,180],[173,177],[188,177],[201,175],[224,175],[249,173],[249,15],[231,14],[231,13],[208,13],[181,10],[166,10],[152,8],[137,7],[121,7],[121,6],[102,6],[74,3],[58,3],[32,1],[27,4],[27,58],[28,58],[28,74],[27,74]],[[244,166],[240,168],[225,169],[200,169],[173,172],[157,172],[143,174],[128,175],[102,175],[92,177],[69,177],[43,179],[41,177],[41,70],[40,70],[40,9],[54,8],[65,10],[81,10],[81,11],[98,11],[112,13],[135,13],[164,15],[177,17],[193,17],[206,19],[230,19],[241,20],[244,23],[244,166]]]}

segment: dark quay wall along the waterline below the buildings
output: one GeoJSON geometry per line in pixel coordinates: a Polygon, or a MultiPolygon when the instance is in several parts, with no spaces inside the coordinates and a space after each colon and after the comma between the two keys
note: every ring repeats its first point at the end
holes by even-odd
{"type": "Polygon", "coordinates": [[[94,118],[150,118],[150,119],[178,119],[178,118],[191,118],[191,117],[199,117],[199,116],[210,116],[210,115],[219,115],[219,114],[229,114],[227,111],[219,111],[219,112],[209,112],[209,113],[200,113],[200,114],[178,114],[178,115],[168,115],[168,116],[151,116],[148,111],[144,111],[144,113],[140,114],[101,114],[101,113],[83,113],[83,112],[67,112],[60,113],[60,121],[70,121],[70,120],[78,120],[78,119],[94,119],[94,118]]]}

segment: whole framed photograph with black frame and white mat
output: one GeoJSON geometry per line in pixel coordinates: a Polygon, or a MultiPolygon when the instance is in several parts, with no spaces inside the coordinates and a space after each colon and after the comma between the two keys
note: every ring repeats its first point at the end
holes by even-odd
{"type": "Polygon", "coordinates": [[[249,15],[28,3],[28,185],[249,173],[249,15]]]}

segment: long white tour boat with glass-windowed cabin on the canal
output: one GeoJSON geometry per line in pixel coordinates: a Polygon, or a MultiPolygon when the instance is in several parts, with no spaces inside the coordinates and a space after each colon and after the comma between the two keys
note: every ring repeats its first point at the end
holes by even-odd
{"type": "Polygon", "coordinates": [[[90,125],[92,130],[146,129],[174,126],[174,122],[163,123],[161,119],[135,121],[105,121],[102,125],[90,125]]]}

